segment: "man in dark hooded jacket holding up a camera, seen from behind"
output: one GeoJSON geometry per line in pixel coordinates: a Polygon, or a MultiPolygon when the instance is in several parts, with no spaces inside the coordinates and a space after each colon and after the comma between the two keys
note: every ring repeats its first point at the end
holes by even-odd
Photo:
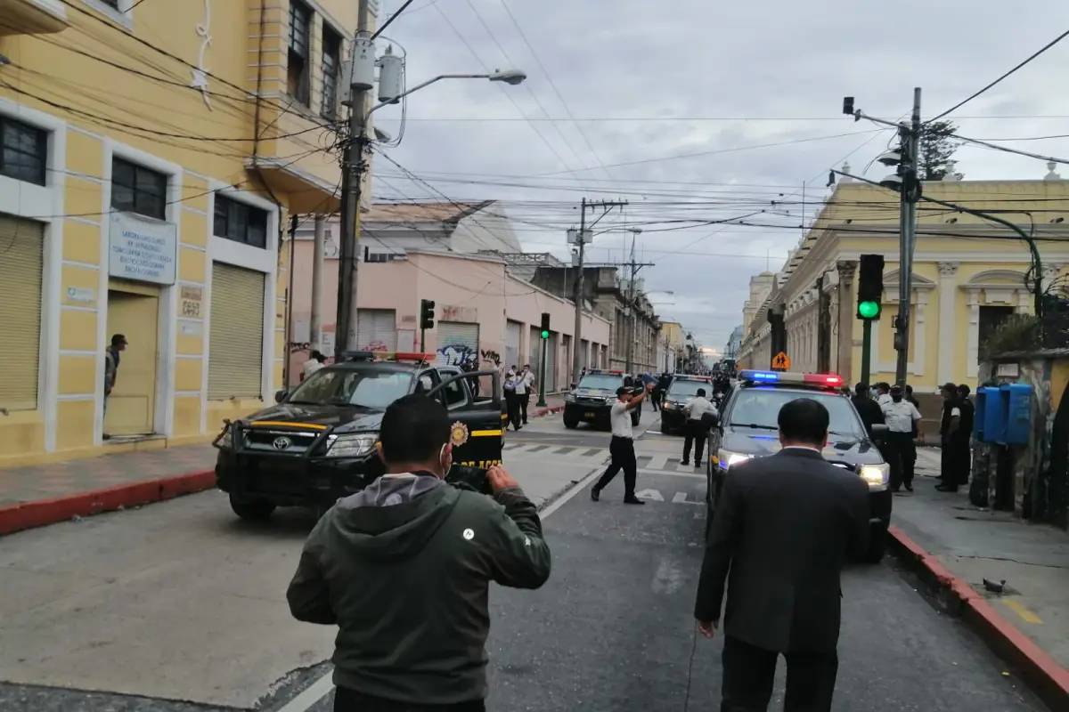
{"type": "Polygon", "coordinates": [[[549,549],[534,505],[502,468],[493,499],[445,480],[449,415],[421,395],[383,416],[386,474],[312,529],[286,591],[298,620],[337,626],[336,712],[482,712],[490,582],[539,588],[549,549]]]}

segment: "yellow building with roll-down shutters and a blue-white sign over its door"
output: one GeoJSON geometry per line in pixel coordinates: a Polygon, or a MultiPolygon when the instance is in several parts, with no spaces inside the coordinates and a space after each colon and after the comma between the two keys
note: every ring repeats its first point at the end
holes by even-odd
{"type": "Polygon", "coordinates": [[[285,228],[338,209],[356,3],[0,18],[0,466],[207,441],[282,382],[285,228]]]}

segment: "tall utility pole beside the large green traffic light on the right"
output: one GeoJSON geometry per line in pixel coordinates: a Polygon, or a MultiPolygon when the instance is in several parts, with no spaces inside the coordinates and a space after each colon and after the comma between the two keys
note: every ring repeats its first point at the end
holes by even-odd
{"type": "Polygon", "coordinates": [[[898,316],[895,318],[895,382],[905,387],[910,362],[910,297],[913,292],[913,249],[916,244],[917,201],[920,200],[920,180],[917,177],[920,153],[920,88],[913,90],[913,116],[909,126],[899,129],[902,137],[901,215],[898,258],[898,316]]]}

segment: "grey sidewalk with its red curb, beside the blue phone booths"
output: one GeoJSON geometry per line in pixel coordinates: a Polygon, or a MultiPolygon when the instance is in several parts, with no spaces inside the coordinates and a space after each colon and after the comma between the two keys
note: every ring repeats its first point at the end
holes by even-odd
{"type": "Polygon", "coordinates": [[[938,448],[918,448],[915,491],[895,497],[899,553],[1045,691],[1049,703],[1069,709],[1069,533],[978,509],[967,488],[936,491],[939,463],[938,448]],[[1002,592],[989,590],[1000,586],[1002,592]]]}

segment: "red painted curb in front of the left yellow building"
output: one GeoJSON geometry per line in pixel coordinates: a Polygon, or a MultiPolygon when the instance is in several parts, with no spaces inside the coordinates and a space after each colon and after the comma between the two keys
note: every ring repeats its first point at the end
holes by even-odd
{"type": "Polygon", "coordinates": [[[173,500],[215,487],[215,471],[190,472],[176,477],[150,479],[118,487],[91,490],[53,500],[22,502],[0,507],[0,536],[22,529],[65,522],[74,517],[92,517],[122,507],[173,500]]]}

